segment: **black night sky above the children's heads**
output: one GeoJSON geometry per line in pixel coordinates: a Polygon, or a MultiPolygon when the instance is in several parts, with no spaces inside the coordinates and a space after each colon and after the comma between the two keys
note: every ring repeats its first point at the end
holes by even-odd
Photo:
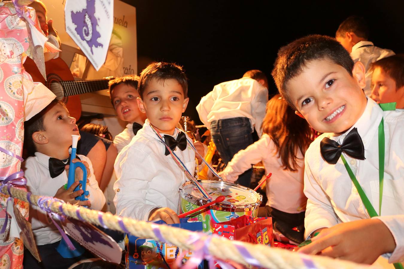
{"type": "Polygon", "coordinates": [[[195,106],[223,81],[260,69],[271,77],[276,53],[308,34],[335,36],[349,15],[368,21],[375,46],[404,52],[404,1],[145,1],[136,7],[138,72],[150,61],[183,65],[190,102],[184,115],[200,123],[195,106]]]}

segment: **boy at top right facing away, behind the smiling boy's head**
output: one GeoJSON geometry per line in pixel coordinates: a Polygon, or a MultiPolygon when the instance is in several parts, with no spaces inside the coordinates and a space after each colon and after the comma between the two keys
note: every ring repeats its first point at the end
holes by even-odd
{"type": "Polygon", "coordinates": [[[394,55],[392,50],[376,47],[368,41],[369,28],[366,21],[358,16],[351,16],[343,21],[335,34],[335,38],[351,54],[354,62],[360,61],[365,66],[366,85],[363,88],[366,96],[370,96],[372,71],[370,65],[382,58],[394,55]]]}

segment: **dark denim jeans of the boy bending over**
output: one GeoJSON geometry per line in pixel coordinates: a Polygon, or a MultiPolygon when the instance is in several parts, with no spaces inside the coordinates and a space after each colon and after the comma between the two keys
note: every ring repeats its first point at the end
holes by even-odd
{"type": "MultiPolygon", "coordinates": [[[[252,128],[248,118],[219,119],[210,123],[210,134],[223,162],[227,165],[234,154],[252,144],[252,128]]],[[[236,183],[249,187],[252,168],[242,173],[236,183]]]]}

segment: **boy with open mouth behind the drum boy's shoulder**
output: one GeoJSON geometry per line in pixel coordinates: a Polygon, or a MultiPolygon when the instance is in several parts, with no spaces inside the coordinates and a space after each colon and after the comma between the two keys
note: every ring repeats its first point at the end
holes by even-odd
{"type": "Polygon", "coordinates": [[[109,96],[115,108],[116,115],[122,121],[126,121],[126,129],[115,136],[114,145],[118,153],[128,145],[130,140],[142,129],[146,115],[139,111],[137,98],[139,92],[137,85],[138,76],[117,77],[109,81],[109,96]]]}

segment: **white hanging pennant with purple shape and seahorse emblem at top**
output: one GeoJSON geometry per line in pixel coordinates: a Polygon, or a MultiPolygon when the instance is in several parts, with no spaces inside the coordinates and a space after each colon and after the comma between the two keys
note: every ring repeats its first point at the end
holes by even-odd
{"type": "Polygon", "coordinates": [[[65,24],[66,32],[98,71],[105,62],[114,26],[112,0],[67,0],[65,24]]]}

